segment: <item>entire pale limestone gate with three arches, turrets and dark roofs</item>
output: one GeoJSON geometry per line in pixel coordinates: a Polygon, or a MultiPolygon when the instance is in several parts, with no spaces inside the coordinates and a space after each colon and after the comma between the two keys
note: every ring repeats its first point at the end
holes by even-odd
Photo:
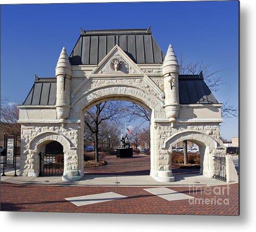
{"type": "Polygon", "coordinates": [[[151,172],[174,181],[171,144],[192,139],[204,149],[201,172],[214,174],[213,154],[225,153],[220,140],[221,106],[203,74],[179,75],[170,45],[164,53],[147,30],[83,31],[70,57],[62,49],[56,77],[35,77],[20,105],[21,170],[38,176],[38,154],[49,141],[63,146],[63,180],[84,175],[84,112],[106,100],[127,100],[151,112],[151,172]]]}

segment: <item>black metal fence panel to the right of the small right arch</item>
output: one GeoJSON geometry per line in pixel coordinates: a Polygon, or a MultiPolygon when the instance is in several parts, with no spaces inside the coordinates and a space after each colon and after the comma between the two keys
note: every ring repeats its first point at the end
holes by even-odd
{"type": "Polygon", "coordinates": [[[215,154],[213,160],[215,165],[213,177],[220,181],[226,181],[226,154],[215,154]]]}

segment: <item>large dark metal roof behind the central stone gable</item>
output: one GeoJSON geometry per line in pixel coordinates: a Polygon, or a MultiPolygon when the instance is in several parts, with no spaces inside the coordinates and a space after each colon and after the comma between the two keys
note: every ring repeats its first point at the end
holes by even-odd
{"type": "Polygon", "coordinates": [[[107,53],[118,45],[135,63],[163,63],[164,53],[149,29],[136,30],[81,30],[70,54],[71,65],[99,64],[107,53]]]}

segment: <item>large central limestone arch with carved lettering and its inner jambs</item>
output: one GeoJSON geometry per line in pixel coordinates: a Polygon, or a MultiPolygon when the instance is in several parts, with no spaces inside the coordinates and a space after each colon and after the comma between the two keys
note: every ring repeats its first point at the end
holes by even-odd
{"type": "MultiPolygon", "coordinates": [[[[156,94],[156,93],[155,93],[156,94]]],[[[111,86],[101,86],[94,89],[91,89],[80,97],[76,97],[73,103],[71,104],[71,114],[74,114],[76,118],[80,121],[79,124],[79,135],[78,140],[80,145],[78,151],[83,151],[84,145],[84,112],[89,110],[93,105],[110,100],[125,100],[134,102],[146,108],[150,112],[150,135],[151,141],[154,141],[155,128],[154,128],[154,119],[155,113],[161,112],[165,115],[163,110],[164,102],[160,99],[160,96],[157,96],[150,92],[145,92],[139,88],[128,85],[111,85],[111,86]]],[[[151,144],[154,144],[152,142],[151,144]]],[[[155,169],[155,147],[151,147],[151,169],[155,169]]],[[[82,152],[78,152],[79,158],[83,159],[82,152]]],[[[83,163],[80,162],[80,169],[83,167],[83,163]]]]}

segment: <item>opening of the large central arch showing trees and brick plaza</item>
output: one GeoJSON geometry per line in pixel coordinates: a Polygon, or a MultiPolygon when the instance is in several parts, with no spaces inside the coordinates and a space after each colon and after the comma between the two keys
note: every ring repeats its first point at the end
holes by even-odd
{"type": "Polygon", "coordinates": [[[85,174],[150,175],[149,107],[131,98],[111,97],[91,103],[83,112],[85,174]],[[122,137],[132,157],[117,157],[122,137]]]}

